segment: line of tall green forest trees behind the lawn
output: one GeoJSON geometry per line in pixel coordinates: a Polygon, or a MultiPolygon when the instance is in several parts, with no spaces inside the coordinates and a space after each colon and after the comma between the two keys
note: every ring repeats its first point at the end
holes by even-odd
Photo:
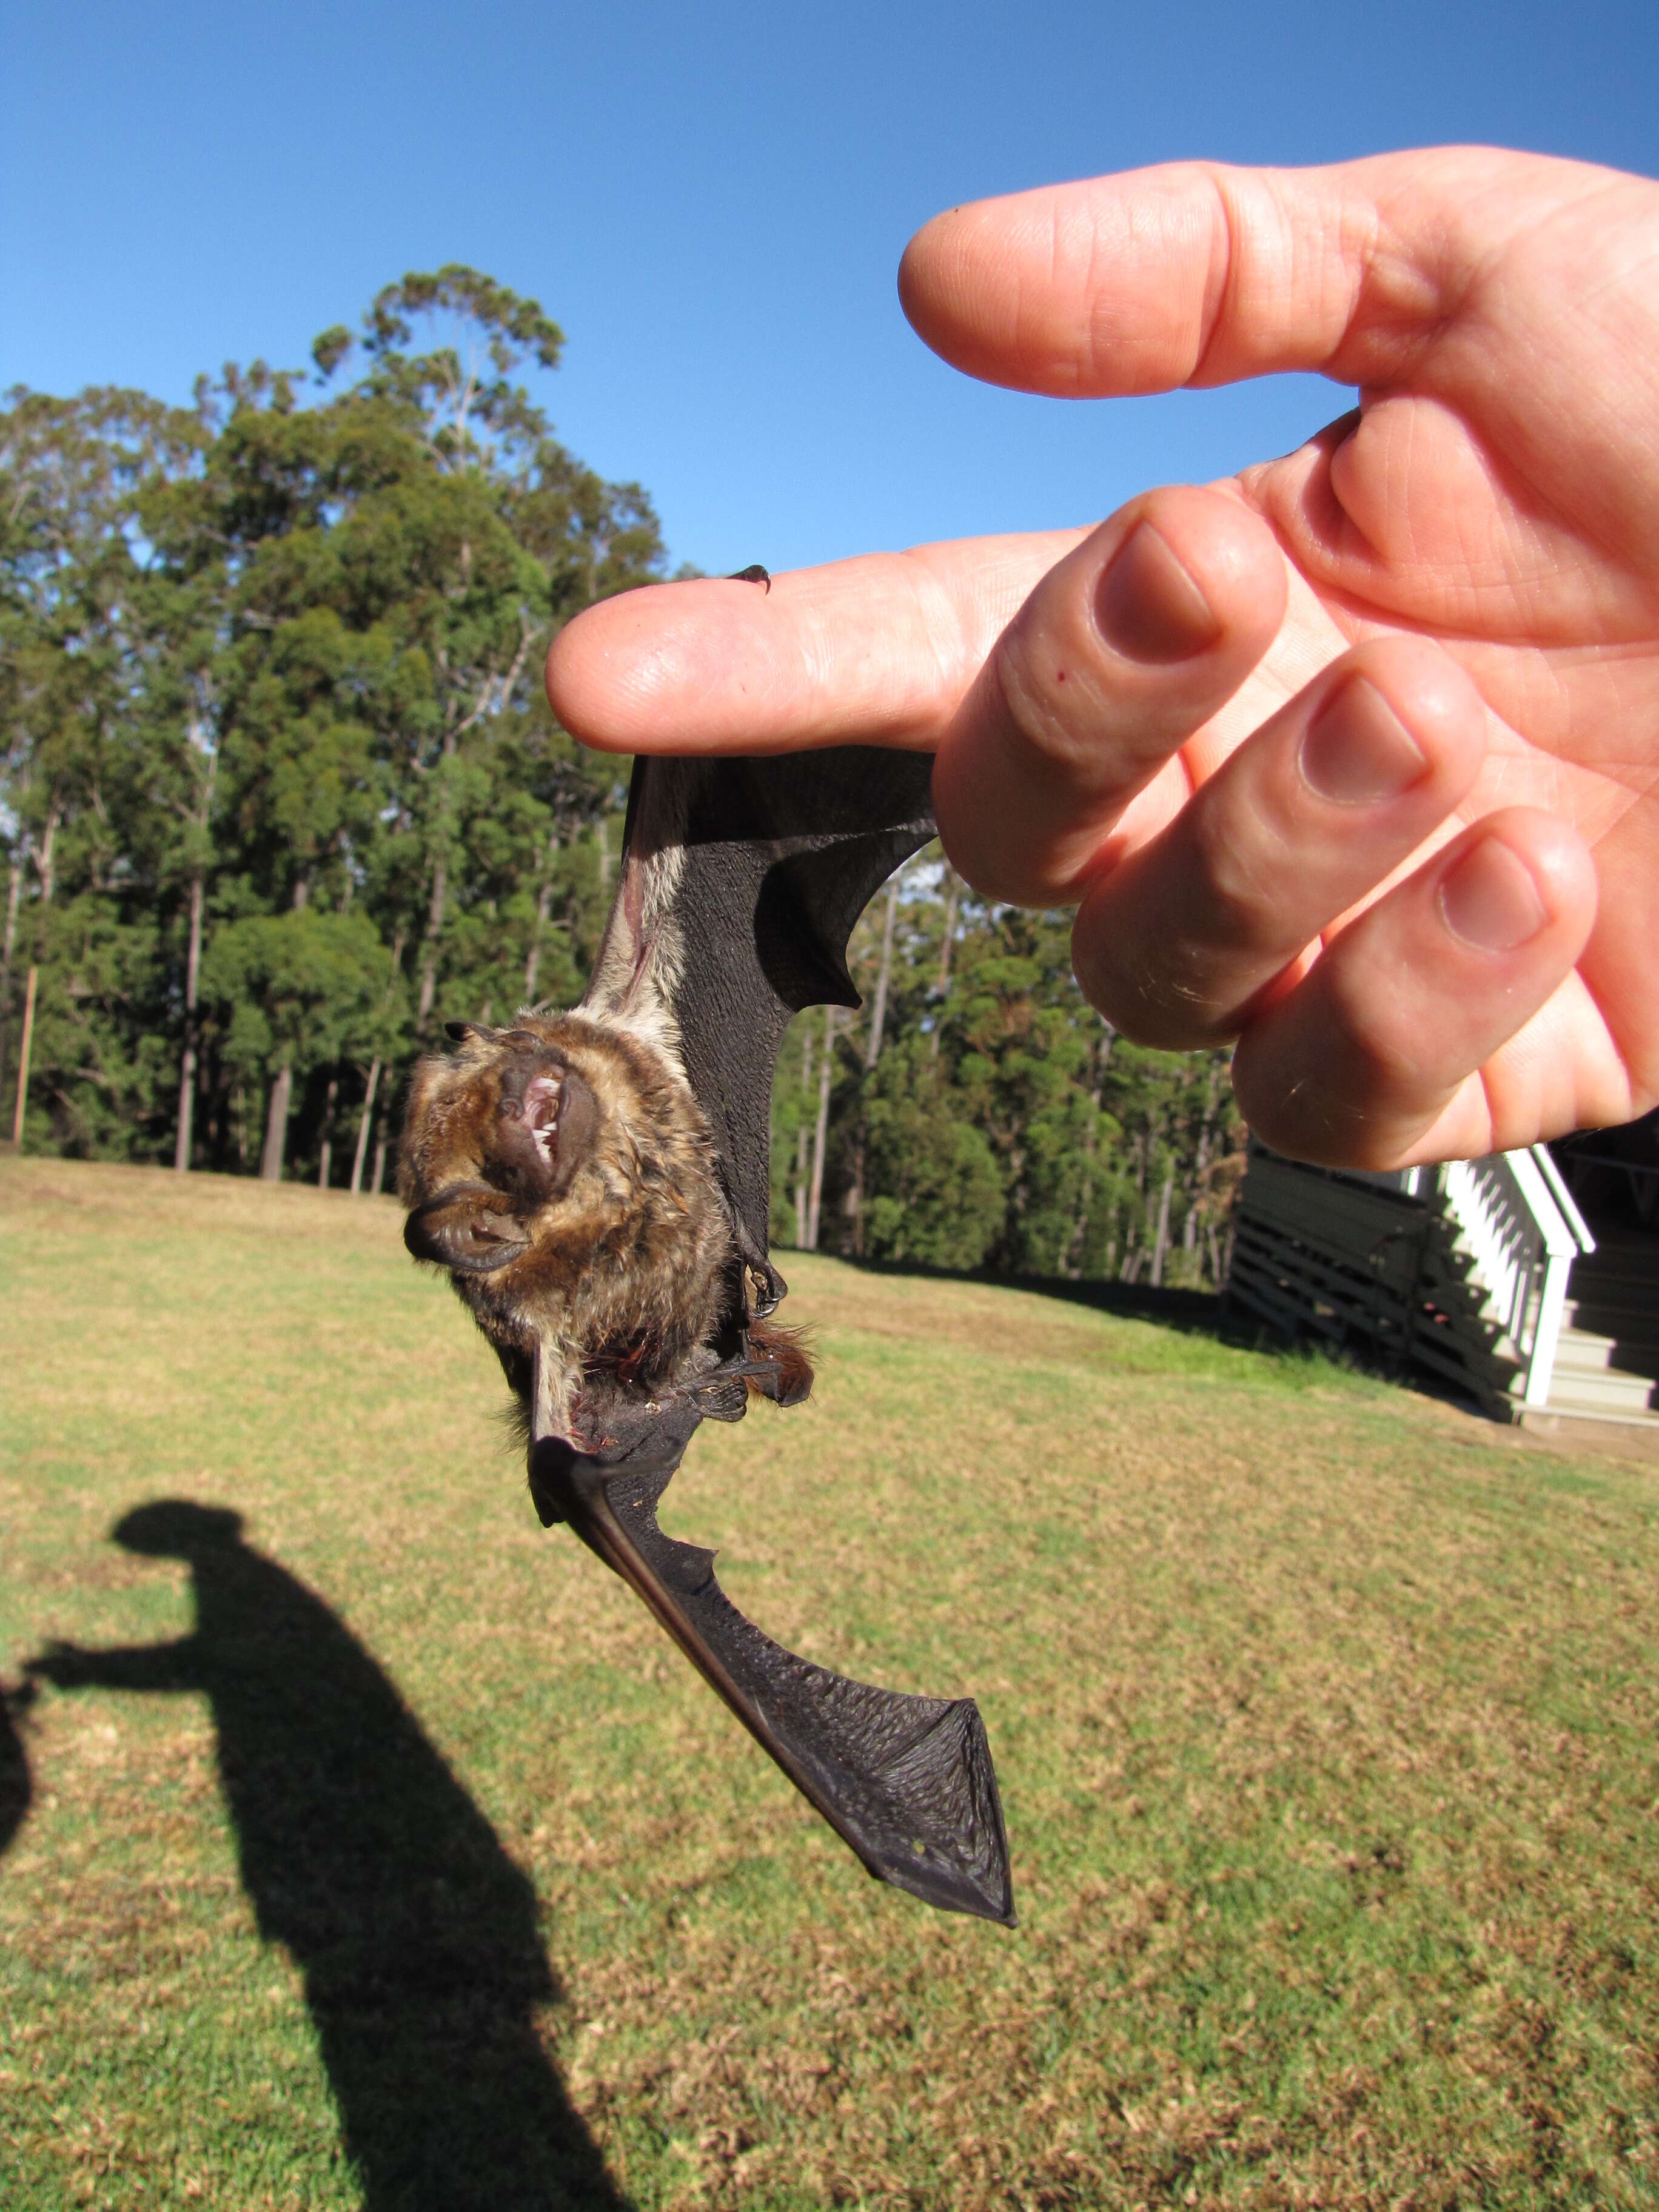
{"type": "MultiPolygon", "coordinates": [[[[27,1150],[378,1190],[447,1020],[580,995],[626,763],[571,743],[540,668],[666,555],[648,495],[520,383],[560,349],[535,301],[445,268],[192,407],[7,394],[0,1099],[27,1150]]],[[[865,1006],[803,1015],[779,1062],[779,1241],[1219,1281],[1223,1057],[1115,1037],[1064,918],[931,849],[854,975],[865,1006]]]]}

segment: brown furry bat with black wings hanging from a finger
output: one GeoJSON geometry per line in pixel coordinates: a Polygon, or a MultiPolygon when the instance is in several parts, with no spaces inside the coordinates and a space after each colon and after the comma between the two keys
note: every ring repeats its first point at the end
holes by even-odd
{"type": "Polygon", "coordinates": [[[418,1062],[405,1243],[495,1347],[544,1526],[568,1522],[878,1880],[1013,1924],[971,1699],[832,1674],[761,1635],[714,1555],[657,1526],[701,1420],[799,1405],[772,1316],[772,1073],[790,1015],[858,1006],[847,938],[933,836],[931,757],[843,745],[639,759],[586,995],[453,1022],[418,1062]]]}

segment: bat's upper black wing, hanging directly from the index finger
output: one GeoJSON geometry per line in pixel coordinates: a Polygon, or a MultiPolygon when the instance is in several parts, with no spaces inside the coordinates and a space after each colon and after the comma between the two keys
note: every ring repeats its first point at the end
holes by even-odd
{"type": "Polygon", "coordinates": [[[739,1250],[772,1281],[772,1071],[790,1015],[856,1006],[852,925],[933,836],[933,757],[836,745],[639,759],[584,1011],[661,1006],[714,1137],[739,1250]]]}

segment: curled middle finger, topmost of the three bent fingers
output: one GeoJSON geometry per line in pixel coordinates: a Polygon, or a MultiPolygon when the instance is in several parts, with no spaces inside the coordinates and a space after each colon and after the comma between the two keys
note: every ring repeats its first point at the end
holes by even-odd
{"type": "MultiPolygon", "coordinates": [[[[1237,500],[1175,484],[1121,507],[1037,584],[940,739],[933,810],[956,867],[989,898],[1077,896],[1283,611],[1283,555],[1237,500]]],[[[1172,814],[1179,763],[1168,781],[1172,814]]]]}

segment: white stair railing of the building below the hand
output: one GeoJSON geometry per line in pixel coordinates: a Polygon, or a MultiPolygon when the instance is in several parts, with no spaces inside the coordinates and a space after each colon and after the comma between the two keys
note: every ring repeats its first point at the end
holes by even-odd
{"type": "Polygon", "coordinates": [[[1447,1161],[1438,1181],[1491,1296],[1493,1318],[1526,1369],[1522,1402],[1544,1405],[1566,1279],[1579,1252],[1595,1252],[1595,1237],[1542,1144],[1447,1161]]]}

